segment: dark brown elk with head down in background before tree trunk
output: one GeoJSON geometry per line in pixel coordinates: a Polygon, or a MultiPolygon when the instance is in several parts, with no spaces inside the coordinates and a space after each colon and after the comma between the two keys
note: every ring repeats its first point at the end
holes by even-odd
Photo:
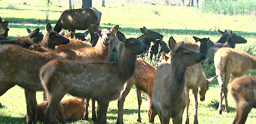
{"type": "MultiPolygon", "coordinates": [[[[91,25],[95,24],[97,27],[99,27],[100,19],[101,12],[95,8],[66,10],[61,14],[59,20],[57,21],[54,31],[59,33],[61,29],[67,29],[72,32],[75,32],[76,29],[88,29],[91,35],[91,43],[94,46],[96,41],[93,41],[95,34],[91,28],[91,25]]],[[[71,35],[71,38],[73,38],[73,35],[71,35]]]]}

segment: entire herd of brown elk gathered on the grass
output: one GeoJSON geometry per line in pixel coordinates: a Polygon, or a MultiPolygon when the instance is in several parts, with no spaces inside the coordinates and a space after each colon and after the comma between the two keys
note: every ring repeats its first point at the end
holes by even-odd
{"type": "Polygon", "coordinates": [[[168,123],[170,118],[173,118],[174,123],[181,123],[186,107],[185,122],[189,123],[188,95],[189,89],[192,89],[194,123],[198,123],[198,92],[200,100],[204,101],[209,83],[217,77],[220,92],[219,114],[222,113],[223,98],[226,103],[225,111],[229,112],[227,90],[232,94],[237,105],[237,114],[233,123],[245,123],[250,110],[256,107],[256,100],[253,97],[256,78],[243,76],[248,70],[256,68],[256,59],[246,52],[233,49],[237,43],[246,43],[244,38],[230,30],[225,32],[219,30],[222,37],[218,42],[212,42],[209,38],[193,37],[196,42],[201,42],[199,47],[194,42],[176,42],[170,37],[169,50],[161,34],[147,30],[145,27],[140,29],[143,35],[137,39],[126,39],[117,31],[118,25],[111,29],[100,30],[98,27],[100,16],[101,13],[94,8],[67,10],[62,13],[54,28],[57,32],[52,30],[50,23],[47,23],[45,36],[39,32],[39,29],[34,31],[27,29],[29,32],[27,37],[16,37],[12,40],[6,38],[9,21],[3,22],[0,18],[0,43],[5,44],[0,45],[0,59],[2,58],[0,63],[4,65],[0,67],[0,84],[2,83],[0,95],[15,85],[25,89],[27,123],[34,124],[37,120],[44,123],[58,121],[66,123],[69,119],[88,119],[89,98],[93,99],[92,120],[97,123],[106,123],[108,104],[118,98],[117,123],[123,123],[123,103],[133,85],[137,89],[138,97],[137,121],[141,122],[140,95],[141,91],[144,91],[149,103],[150,122],[154,123],[155,116],[159,114],[161,123],[168,123]],[[75,19],[78,15],[74,15],[75,12],[79,16],[84,14],[83,12],[88,12],[95,18],[86,20],[87,15],[83,15],[84,20],[79,22],[84,21],[86,24],[82,24],[86,27],[81,28],[73,23],[78,23],[75,19]],[[73,19],[72,22],[70,18],[73,19]],[[80,38],[59,35],[61,28],[73,31],[69,35],[73,34],[80,38]],[[89,31],[76,34],[75,29],[89,29],[89,31]],[[84,41],[84,36],[89,32],[92,36],[91,41],[95,41],[94,45],[84,41]],[[138,54],[147,51],[151,41],[154,43],[151,57],[158,53],[159,44],[161,45],[162,56],[157,69],[143,59],[137,58],[138,54]],[[120,42],[123,44],[119,58],[120,42]],[[200,63],[203,64],[207,52],[211,49],[216,52],[214,57],[216,76],[206,79],[200,63]],[[117,62],[108,62],[112,51],[116,52],[117,62]],[[163,51],[170,51],[172,55],[167,55],[163,51]],[[224,83],[222,76],[225,76],[224,83]],[[37,106],[35,91],[44,90],[48,101],[37,106]],[[79,98],[60,101],[66,93],[79,98]],[[98,117],[95,100],[98,102],[98,117]]]}

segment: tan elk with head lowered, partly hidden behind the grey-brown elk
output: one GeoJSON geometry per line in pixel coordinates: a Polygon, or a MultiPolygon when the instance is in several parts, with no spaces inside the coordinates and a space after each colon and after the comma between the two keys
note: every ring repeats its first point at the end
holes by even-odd
{"type": "MultiPolygon", "coordinates": [[[[177,45],[179,46],[182,43],[182,41],[178,41],[177,45]]],[[[184,47],[187,48],[190,51],[194,51],[194,52],[199,52],[199,47],[196,43],[193,42],[184,42],[184,47]]],[[[172,56],[171,55],[166,55],[165,53],[162,54],[162,56],[160,58],[162,58],[162,60],[160,60],[160,63],[169,63],[170,62],[170,58],[172,56]]],[[[195,109],[195,119],[194,119],[194,123],[198,123],[198,119],[197,119],[197,109],[198,109],[198,100],[197,100],[197,94],[199,91],[199,95],[200,95],[200,101],[204,101],[205,100],[205,93],[208,90],[209,87],[209,83],[212,82],[213,80],[215,80],[217,77],[212,77],[210,79],[206,79],[204,72],[202,70],[202,65],[201,64],[194,64],[191,66],[187,67],[187,72],[186,72],[186,87],[185,87],[185,93],[186,93],[186,109],[187,109],[187,113],[186,113],[186,123],[189,123],[189,118],[188,118],[188,107],[189,107],[189,89],[193,90],[193,96],[194,96],[194,109],[195,109]]]]}

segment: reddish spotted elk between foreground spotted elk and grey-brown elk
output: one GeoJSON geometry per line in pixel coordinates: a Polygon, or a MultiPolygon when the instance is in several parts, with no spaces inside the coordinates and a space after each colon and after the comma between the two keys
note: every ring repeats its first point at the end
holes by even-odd
{"type": "MultiPolygon", "coordinates": [[[[140,117],[141,91],[144,91],[146,95],[152,96],[155,72],[156,72],[156,69],[150,63],[146,62],[141,58],[137,58],[134,75],[129,80],[126,81],[126,83],[124,84],[124,88],[121,91],[119,96],[117,123],[123,123],[123,103],[126,95],[129,93],[133,85],[135,85],[137,89],[137,98],[138,98],[138,106],[139,106],[137,121],[141,122],[141,117],[140,117]]],[[[150,122],[154,122],[154,117],[157,114],[157,110],[154,108],[150,98],[148,99],[148,102],[150,103],[150,107],[148,108],[148,116],[150,117],[150,122]]]]}

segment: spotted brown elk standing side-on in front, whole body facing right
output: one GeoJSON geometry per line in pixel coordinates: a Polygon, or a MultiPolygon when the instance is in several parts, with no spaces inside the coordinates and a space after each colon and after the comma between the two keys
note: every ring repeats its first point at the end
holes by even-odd
{"type": "Polygon", "coordinates": [[[145,38],[146,36],[126,39],[118,32],[118,39],[124,44],[118,62],[83,64],[53,60],[42,66],[40,80],[48,96],[44,123],[51,123],[55,108],[66,93],[97,100],[97,123],[106,123],[109,102],[118,98],[124,83],[132,77],[137,55],[148,50],[141,42],[145,38]]]}

